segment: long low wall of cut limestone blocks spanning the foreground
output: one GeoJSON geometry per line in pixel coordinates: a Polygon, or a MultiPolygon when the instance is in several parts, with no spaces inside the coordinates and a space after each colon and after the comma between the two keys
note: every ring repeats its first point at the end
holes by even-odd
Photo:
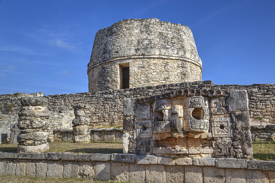
{"type": "Polygon", "coordinates": [[[274,161],[134,154],[0,153],[0,175],[123,182],[275,182],[274,161]]]}

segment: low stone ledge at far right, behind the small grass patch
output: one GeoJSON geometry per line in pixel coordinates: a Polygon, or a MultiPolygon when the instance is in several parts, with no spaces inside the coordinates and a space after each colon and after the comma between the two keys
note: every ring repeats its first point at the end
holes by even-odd
{"type": "Polygon", "coordinates": [[[252,141],[275,141],[275,124],[250,124],[252,141]]]}

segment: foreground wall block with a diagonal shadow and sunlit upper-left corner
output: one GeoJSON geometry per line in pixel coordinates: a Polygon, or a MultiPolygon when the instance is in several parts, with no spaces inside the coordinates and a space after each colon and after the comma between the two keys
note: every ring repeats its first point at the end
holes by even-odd
{"type": "Polygon", "coordinates": [[[109,181],[110,176],[110,164],[109,163],[97,163],[95,165],[95,179],[98,181],[109,181]]]}

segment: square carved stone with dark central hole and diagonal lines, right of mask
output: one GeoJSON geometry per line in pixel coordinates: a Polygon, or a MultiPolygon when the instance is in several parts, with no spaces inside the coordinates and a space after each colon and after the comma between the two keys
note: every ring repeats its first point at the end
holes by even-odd
{"type": "Polygon", "coordinates": [[[233,137],[233,128],[230,117],[212,118],[213,137],[233,137]]]}

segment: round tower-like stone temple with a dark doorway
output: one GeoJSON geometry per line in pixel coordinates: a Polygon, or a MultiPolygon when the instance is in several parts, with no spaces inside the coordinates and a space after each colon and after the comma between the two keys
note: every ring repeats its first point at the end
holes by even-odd
{"type": "Polygon", "coordinates": [[[202,62],[187,26],[127,19],[95,35],[88,80],[90,92],[201,81],[202,62]]]}

